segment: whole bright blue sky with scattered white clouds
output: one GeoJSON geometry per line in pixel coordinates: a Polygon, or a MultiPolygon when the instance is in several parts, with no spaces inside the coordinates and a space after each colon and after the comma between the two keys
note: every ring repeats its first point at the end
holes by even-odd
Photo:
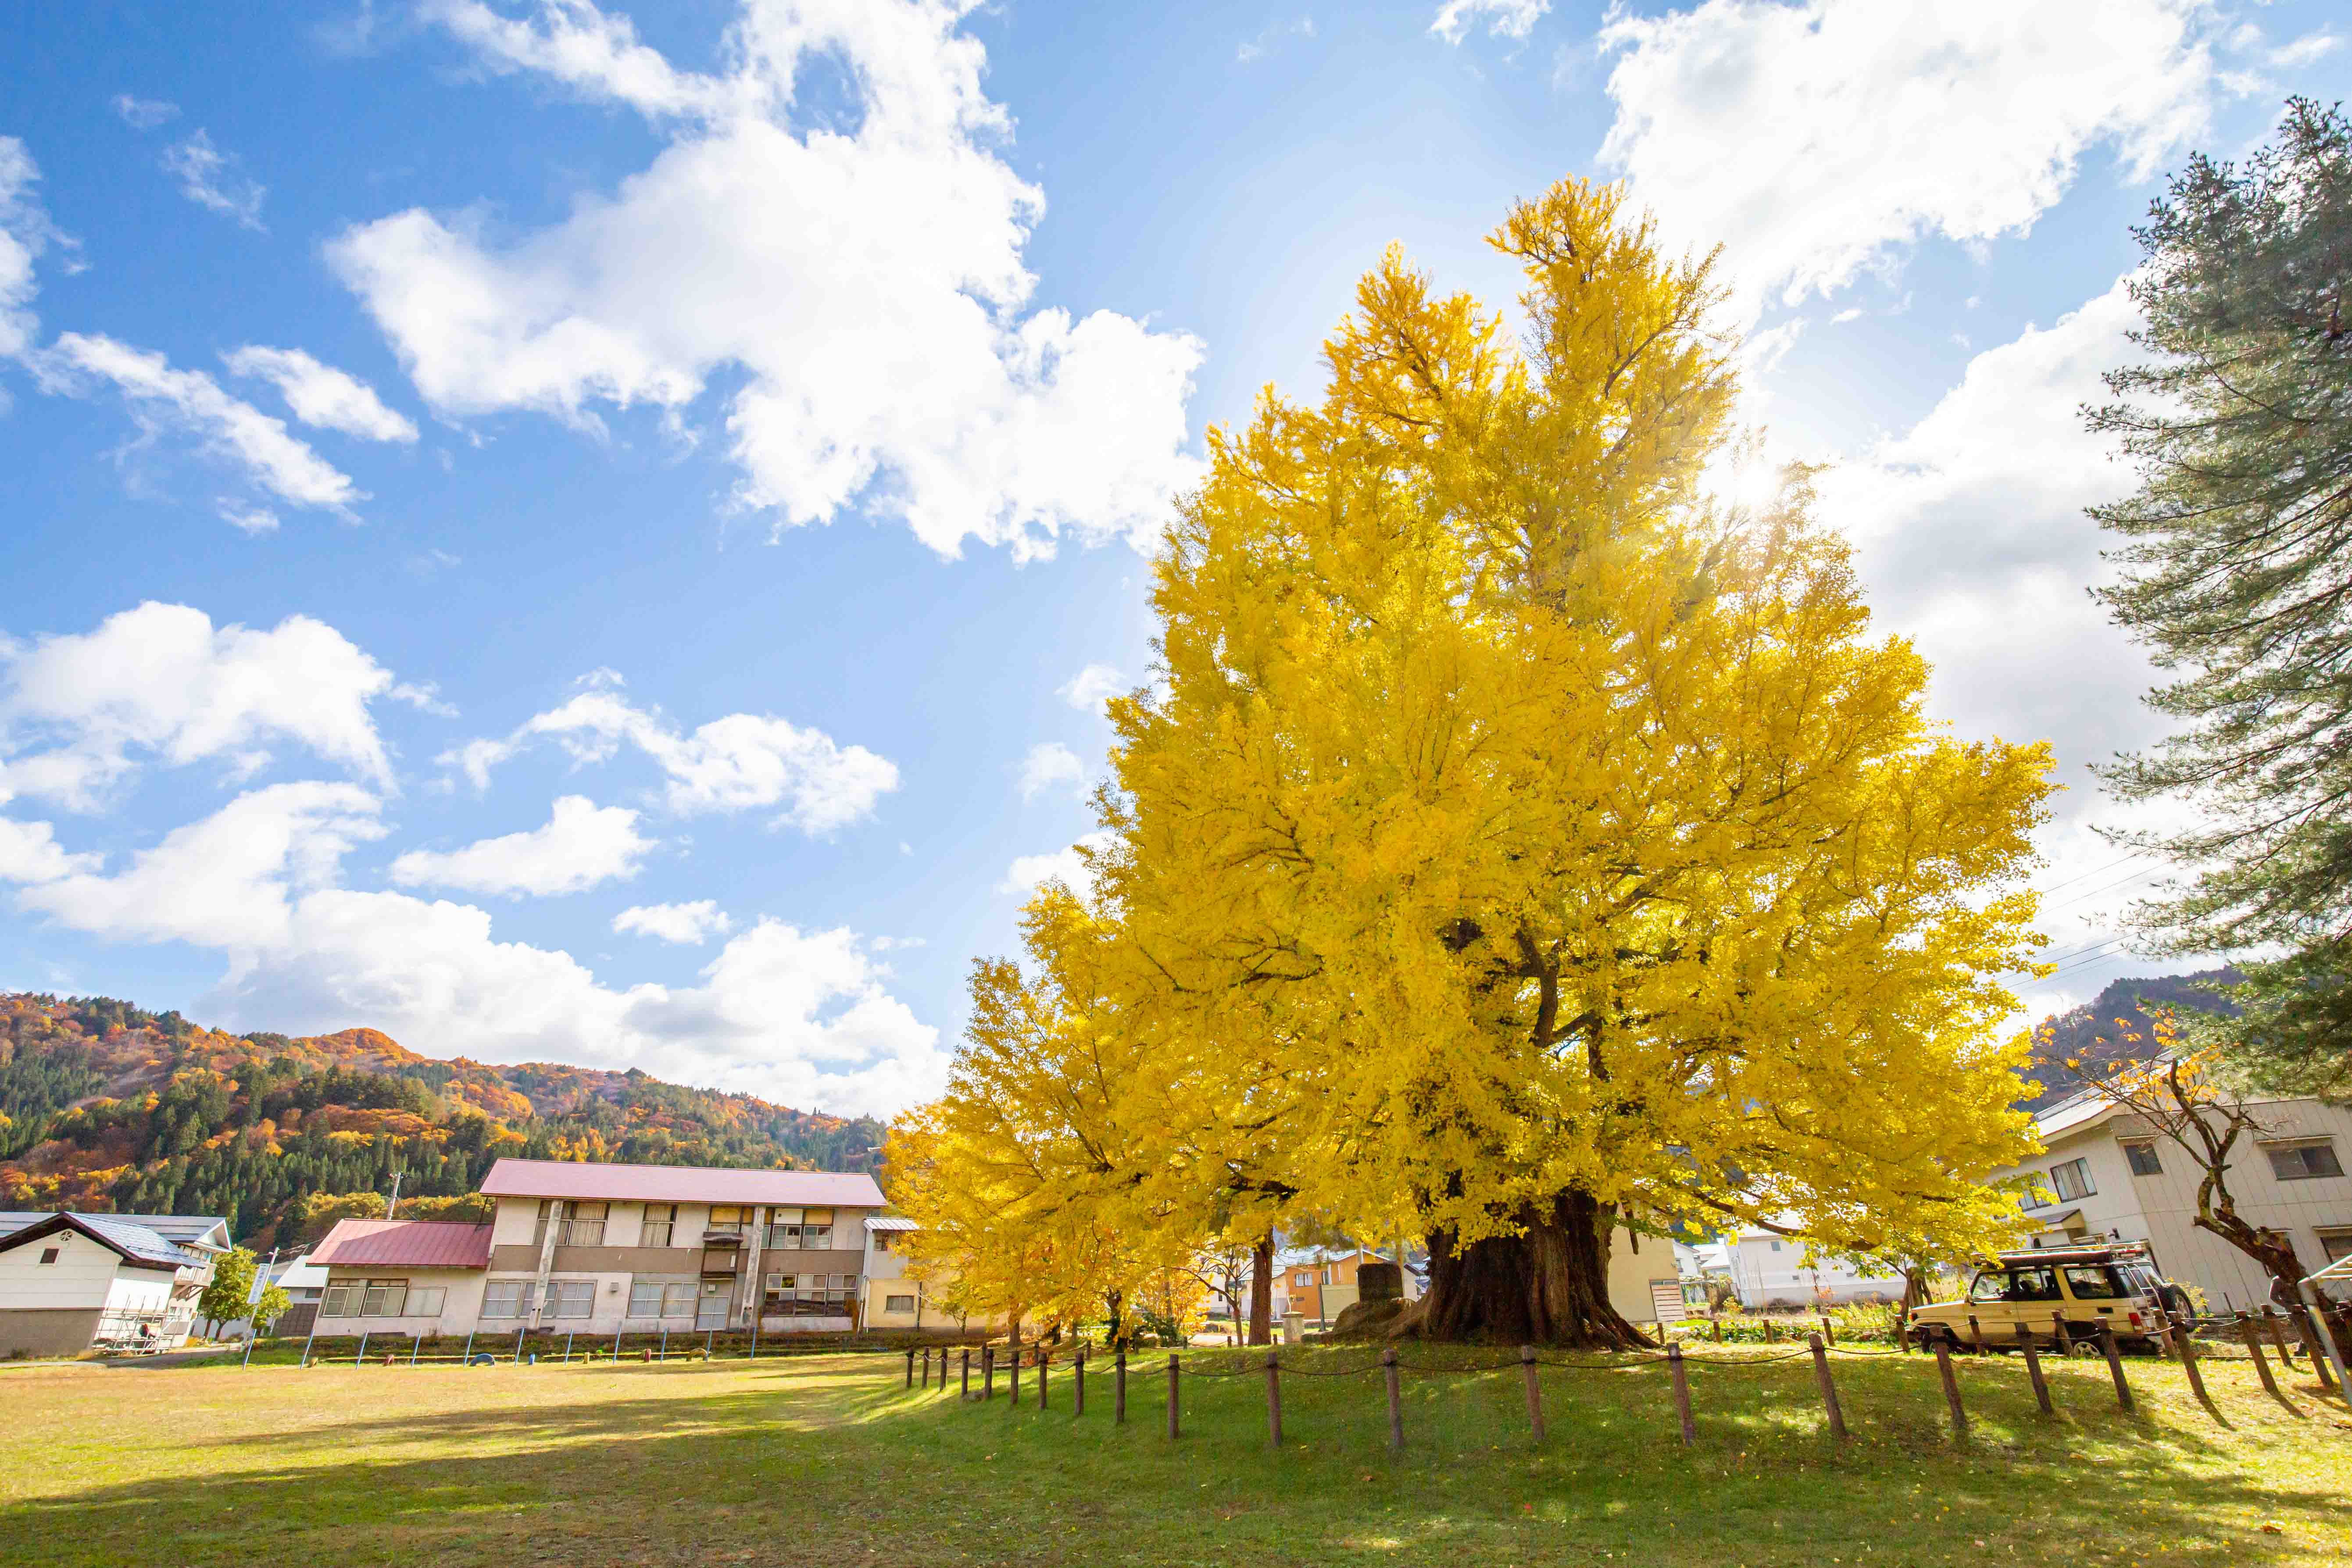
{"type": "Polygon", "coordinates": [[[1576,172],[1726,247],[1938,712],[2058,745],[2082,999],[2159,969],[2084,773],[2157,731],[2074,407],[2161,172],[2347,80],[2293,2],[26,7],[0,985],[929,1093],[1204,425],[1390,240],[1508,299],[1576,172]]]}

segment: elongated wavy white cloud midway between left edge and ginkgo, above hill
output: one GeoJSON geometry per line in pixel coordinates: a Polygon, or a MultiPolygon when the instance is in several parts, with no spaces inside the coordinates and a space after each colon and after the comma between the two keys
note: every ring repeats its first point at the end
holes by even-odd
{"type": "Polygon", "coordinates": [[[555,738],[576,762],[607,762],[633,745],[668,776],[663,804],[680,816],[781,806],[779,823],[826,835],[870,816],[898,788],[898,769],[863,745],[837,745],[821,729],[790,719],[731,712],[680,733],[661,715],[635,708],[609,682],[524,719],[503,741],[470,741],[442,755],[480,790],[489,771],[534,738],[555,738]]]}

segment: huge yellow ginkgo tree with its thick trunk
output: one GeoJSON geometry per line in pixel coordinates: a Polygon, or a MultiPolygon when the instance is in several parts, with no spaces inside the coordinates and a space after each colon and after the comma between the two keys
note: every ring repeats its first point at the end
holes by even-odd
{"type": "Polygon", "coordinates": [[[1195,1244],[1263,1204],[1421,1237],[1439,1338],[1635,1340],[1618,1225],[1997,1237],[2046,748],[1929,722],[1802,473],[1708,503],[1712,261],[1621,200],[1562,181],[1491,237],[1517,336],[1390,252],[1322,402],[1211,430],[1094,886],[1030,912],[1040,1006],[1117,1044],[1021,1058],[964,1159],[1195,1244]]]}

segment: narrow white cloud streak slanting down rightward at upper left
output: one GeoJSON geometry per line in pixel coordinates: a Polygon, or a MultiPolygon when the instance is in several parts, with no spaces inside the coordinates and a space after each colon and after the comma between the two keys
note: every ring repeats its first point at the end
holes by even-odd
{"type": "Polygon", "coordinates": [[[172,369],[160,353],[66,331],[38,353],[33,371],[45,390],[68,395],[85,393],[92,378],[111,381],[148,440],[181,430],[289,505],[350,517],[350,505],[367,498],[334,463],[289,435],[282,418],[230,397],[205,371],[172,369]]]}

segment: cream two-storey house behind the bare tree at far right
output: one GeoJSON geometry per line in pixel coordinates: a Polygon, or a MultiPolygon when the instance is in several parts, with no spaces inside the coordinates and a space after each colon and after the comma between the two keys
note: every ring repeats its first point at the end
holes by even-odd
{"type": "MultiPolygon", "coordinates": [[[[2260,1133],[2239,1140],[2227,1171],[2239,1215],[2284,1234],[2305,1274],[2352,1255],[2352,1110],[2265,1100],[2251,1112],[2260,1133]]],[[[2216,1312],[2270,1300],[2270,1279],[2246,1253],[2197,1229],[2201,1171],[2180,1145],[2091,1091],[2044,1110],[2034,1133],[2042,1157],[1994,1173],[2042,1187],[2020,1204],[2030,1246],[2147,1241],[2157,1267],[2204,1291],[2216,1312]]]]}

